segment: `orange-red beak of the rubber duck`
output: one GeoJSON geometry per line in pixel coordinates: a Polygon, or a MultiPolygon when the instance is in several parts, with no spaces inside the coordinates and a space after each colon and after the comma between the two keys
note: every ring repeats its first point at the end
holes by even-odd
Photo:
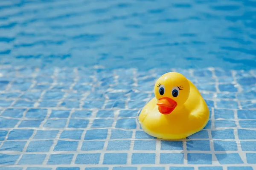
{"type": "Polygon", "coordinates": [[[169,114],[176,108],[177,102],[169,97],[163,97],[157,102],[158,110],[162,114],[169,114]]]}

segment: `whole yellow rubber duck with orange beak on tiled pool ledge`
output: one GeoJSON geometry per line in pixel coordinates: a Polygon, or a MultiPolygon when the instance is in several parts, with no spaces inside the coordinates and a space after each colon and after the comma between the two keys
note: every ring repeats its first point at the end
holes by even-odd
{"type": "Polygon", "coordinates": [[[163,74],[154,86],[154,94],[139,115],[145,133],[161,139],[183,139],[207,125],[207,104],[182,74],[163,74]]]}

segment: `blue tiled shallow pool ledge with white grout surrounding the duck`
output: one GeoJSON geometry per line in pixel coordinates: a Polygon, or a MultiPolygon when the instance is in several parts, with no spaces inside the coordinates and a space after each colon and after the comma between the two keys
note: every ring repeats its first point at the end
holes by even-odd
{"type": "Polygon", "coordinates": [[[256,71],[0,67],[0,170],[256,170],[256,71]],[[211,111],[183,140],[137,122],[168,71],[211,111]]]}

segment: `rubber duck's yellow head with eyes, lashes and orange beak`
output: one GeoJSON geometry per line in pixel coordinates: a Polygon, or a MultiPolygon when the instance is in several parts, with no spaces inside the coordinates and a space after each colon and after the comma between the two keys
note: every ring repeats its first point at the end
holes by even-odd
{"type": "Polygon", "coordinates": [[[163,74],[154,86],[154,94],[158,99],[158,110],[169,114],[176,107],[182,106],[189,97],[189,81],[180,73],[163,74]]]}

